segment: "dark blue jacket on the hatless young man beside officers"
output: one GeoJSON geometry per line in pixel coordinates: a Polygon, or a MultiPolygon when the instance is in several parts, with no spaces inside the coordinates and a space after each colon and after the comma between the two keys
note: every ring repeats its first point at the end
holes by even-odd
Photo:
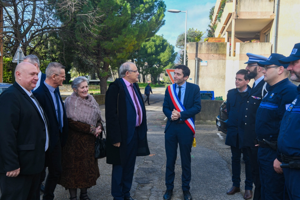
{"type": "Polygon", "coordinates": [[[246,102],[251,87],[247,85],[248,90],[242,97],[238,92],[238,88],[229,90],[227,93],[227,115],[228,120],[226,122],[227,135],[225,144],[233,147],[237,147],[237,136],[238,136],[238,148],[243,147],[244,138],[244,116],[246,111],[246,102]]]}

